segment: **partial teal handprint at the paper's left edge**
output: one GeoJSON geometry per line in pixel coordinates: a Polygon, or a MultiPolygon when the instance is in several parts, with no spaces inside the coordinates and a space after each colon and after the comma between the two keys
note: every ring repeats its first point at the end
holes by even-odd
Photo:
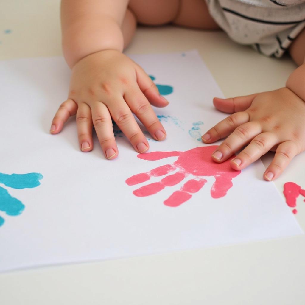
{"type": "MultiPolygon", "coordinates": [[[[11,175],[0,173],[0,183],[16,189],[35,188],[40,185],[39,180],[42,178],[43,176],[39,173],[11,175]]],[[[10,216],[16,216],[22,213],[24,207],[20,200],[11,196],[5,188],[0,187],[0,211],[10,216]]],[[[0,227],[2,224],[4,224],[4,219],[0,216],[0,227]]]]}

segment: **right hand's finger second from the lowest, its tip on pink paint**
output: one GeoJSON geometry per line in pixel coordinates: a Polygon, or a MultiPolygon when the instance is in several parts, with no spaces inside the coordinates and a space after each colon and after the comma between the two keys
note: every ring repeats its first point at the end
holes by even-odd
{"type": "Polygon", "coordinates": [[[274,133],[263,132],[256,136],[236,158],[232,159],[230,165],[235,170],[242,170],[263,156],[277,143],[278,138],[274,133]]]}

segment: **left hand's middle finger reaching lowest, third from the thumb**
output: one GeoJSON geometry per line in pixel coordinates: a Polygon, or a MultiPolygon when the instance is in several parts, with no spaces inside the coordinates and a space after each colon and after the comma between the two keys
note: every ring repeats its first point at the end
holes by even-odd
{"type": "Polygon", "coordinates": [[[95,132],[106,158],[115,159],[118,156],[118,149],[108,108],[103,103],[97,102],[91,107],[91,113],[95,132]]]}

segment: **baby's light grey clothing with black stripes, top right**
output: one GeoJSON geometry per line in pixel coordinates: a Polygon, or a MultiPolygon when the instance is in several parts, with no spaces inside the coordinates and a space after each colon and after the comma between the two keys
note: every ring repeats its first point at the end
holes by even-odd
{"type": "Polygon", "coordinates": [[[210,15],[233,40],[281,57],[305,27],[305,0],[206,0],[210,15]]]}

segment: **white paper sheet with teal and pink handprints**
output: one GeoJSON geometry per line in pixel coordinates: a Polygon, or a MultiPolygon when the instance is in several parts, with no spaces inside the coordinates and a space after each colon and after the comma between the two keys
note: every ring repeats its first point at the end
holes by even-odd
{"type": "MultiPolygon", "coordinates": [[[[197,137],[226,115],[213,108],[213,96],[222,93],[197,52],[131,57],[155,77],[156,84],[173,87],[166,96],[170,105],[155,108],[167,139],[156,142],[148,136],[149,152],[208,146],[197,137]]],[[[233,178],[233,186],[220,198],[211,195],[213,176],[193,175],[154,195],[135,196],[133,191],[165,176],[139,185],[127,185],[127,178],[173,164],[178,156],[139,159],[119,133],[116,160],[105,159],[96,138],[94,150],[83,153],[74,118],[60,134],[50,135],[52,117],[67,96],[69,77],[59,57],[0,63],[0,172],[43,175],[41,185],[23,189],[5,185],[7,176],[0,176],[0,187],[25,205],[18,216],[0,211],[5,221],[0,226],[0,271],[302,233],[274,184],[262,179],[260,160],[233,178]],[[191,178],[207,182],[177,207],[163,203],[191,178]]]]}

